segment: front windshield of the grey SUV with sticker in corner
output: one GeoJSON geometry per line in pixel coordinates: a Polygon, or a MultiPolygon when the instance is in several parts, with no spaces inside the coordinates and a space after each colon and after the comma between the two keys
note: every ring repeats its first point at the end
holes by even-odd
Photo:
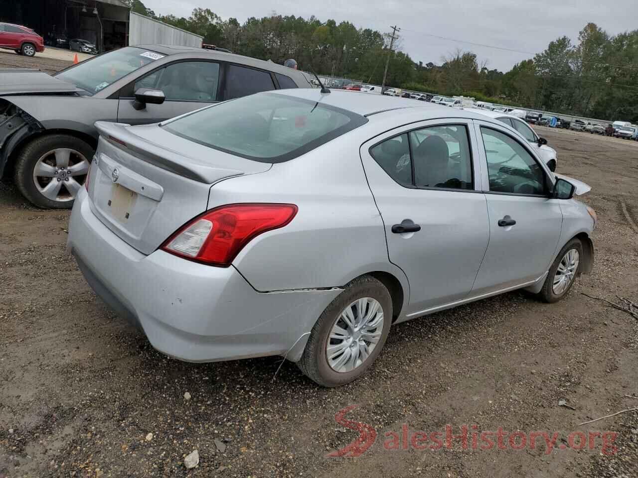
{"type": "Polygon", "coordinates": [[[126,47],[78,63],[55,76],[93,95],[131,71],[163,57],[142,48],[126,47]]]}

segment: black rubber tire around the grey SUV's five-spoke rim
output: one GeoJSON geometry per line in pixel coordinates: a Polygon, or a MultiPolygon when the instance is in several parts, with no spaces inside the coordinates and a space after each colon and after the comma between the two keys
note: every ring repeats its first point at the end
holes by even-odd
{"type": "Polygon", "coordinates": [[[87,161],[93,157],[93,147],[70,134],[48,134],[29,141],[22,148],[15,161],[15,185],[22,195],[34,205],[43,209],[68,209],[73,206],[69,201],[52,201],[38,191],[33,178],[33,170],[41,156],[56,148],[70,148],[82,154],[87,161]]]}

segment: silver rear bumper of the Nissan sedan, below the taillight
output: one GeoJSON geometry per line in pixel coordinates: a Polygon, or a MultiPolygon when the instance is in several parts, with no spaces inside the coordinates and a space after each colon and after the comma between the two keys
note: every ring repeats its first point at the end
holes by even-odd
{"type": "Polygon", "coordinates": [[[145,256],[100,222],[84,189],[73,205],[68,249],[98,296],[158,351],[185,361],[285,354],[295,344],[288,358],[297,360],[316,319],[339,294],[258,293],[232,266],[205,266],[161,250],[145,256]]]}

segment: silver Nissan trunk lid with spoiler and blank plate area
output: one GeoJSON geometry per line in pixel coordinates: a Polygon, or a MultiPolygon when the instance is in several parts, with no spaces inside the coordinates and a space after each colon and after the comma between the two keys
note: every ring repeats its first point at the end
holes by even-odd
{"type": "Polygon", "coordinates": [[[91,210],[143,254],[207,210],[216,182],[272,166],[199,145],[156,124],[95,126],[100,140],[89,175],[91,210]]]}

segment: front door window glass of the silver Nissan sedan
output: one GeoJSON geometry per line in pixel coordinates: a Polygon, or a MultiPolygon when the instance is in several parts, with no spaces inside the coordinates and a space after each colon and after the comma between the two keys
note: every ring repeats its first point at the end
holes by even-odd
{"type": "Polygon", "coordinates": [[[487,156],[489,190],[512,194],[545,194],[545,176],[531,154],[507,134],[481,127],[487,156]]]}

